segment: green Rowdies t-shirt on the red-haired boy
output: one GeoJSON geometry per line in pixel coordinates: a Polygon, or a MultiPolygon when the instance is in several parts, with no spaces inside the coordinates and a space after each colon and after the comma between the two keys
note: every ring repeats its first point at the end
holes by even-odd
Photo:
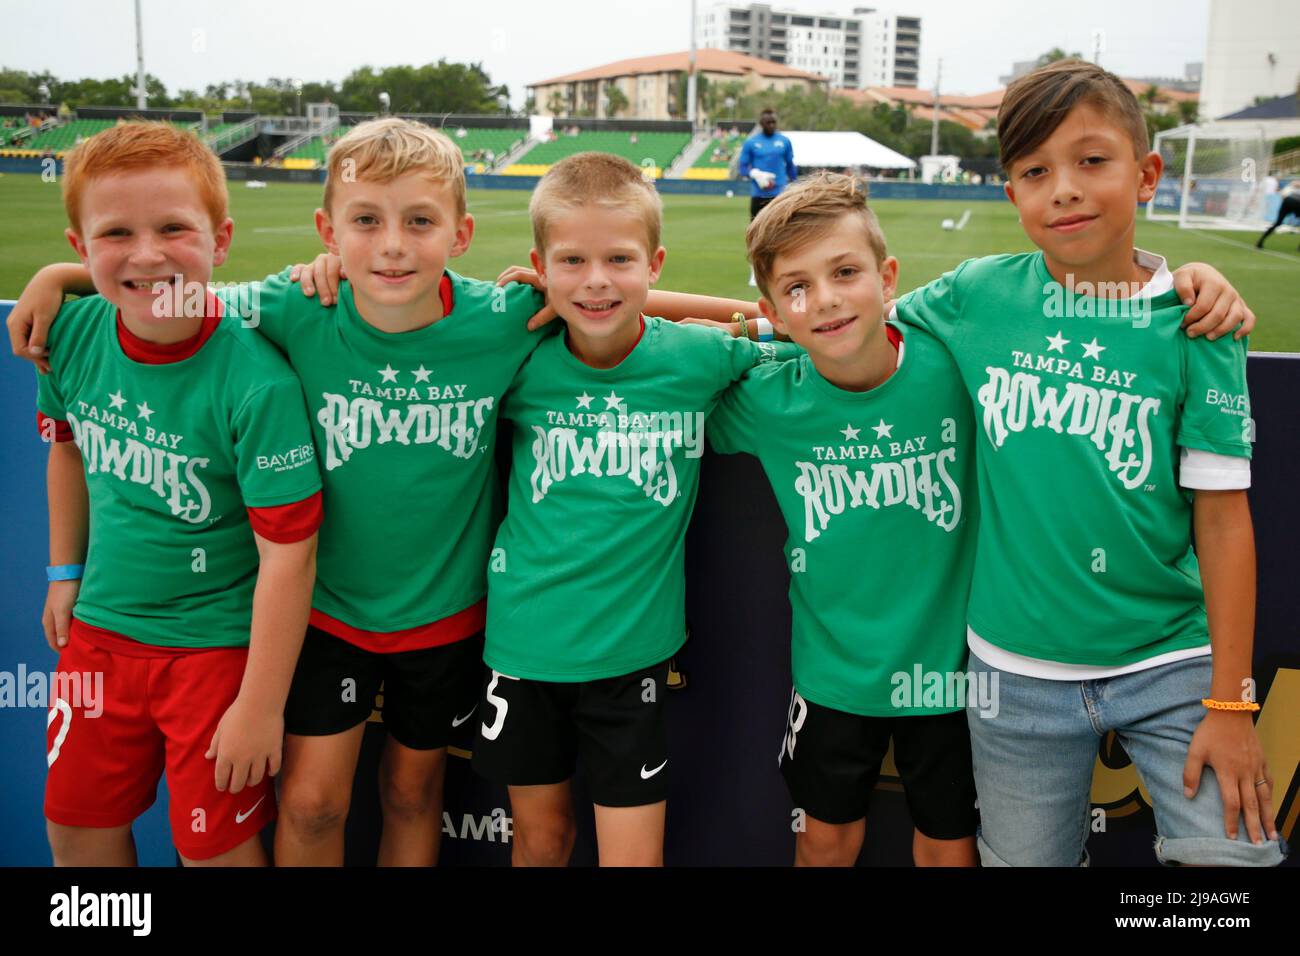
{"type": "Polygon", "coordinates": [[[74,614],[144,644],[247,646],[257,544],[248,507],[309,498],[303,390],[274,349],[222,320],[190,358],[127,358],[117,308],[62,307],[36,407],[72,425],[90,545],[74,614]]]}

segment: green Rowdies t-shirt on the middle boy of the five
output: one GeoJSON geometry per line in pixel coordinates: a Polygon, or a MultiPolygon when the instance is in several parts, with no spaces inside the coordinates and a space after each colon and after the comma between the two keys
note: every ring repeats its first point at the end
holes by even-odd
{"type": "Polygon", "coordinates": [[[685,536],[705,418],[745,371],[798,350],[645,323],[607,369],[582,364],[564,336],[542,342],[506,395],[514,464],[484,653],[503,674],[620,676],[685,640],[685,536]]]}

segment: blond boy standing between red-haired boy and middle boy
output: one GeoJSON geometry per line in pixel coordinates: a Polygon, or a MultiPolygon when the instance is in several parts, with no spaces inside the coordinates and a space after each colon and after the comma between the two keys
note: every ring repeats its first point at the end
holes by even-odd
{"type": "MultiPolygon", "coordinates": [[[[234,333],[269,339],[302,378],[328,502],[285,709],[276,861],[343,862],[382,684],[380,862],[430,865],[446,745],[482,672],[497,403],[542,338],[526,328],[542,299],[446,269],[473,219],[459,148],[420,124],[361,124],[335,143],[316,221],[350,276],[337,306],[303,297],[287,271],[218,293],[234,333]]],[[[83,273],[49,280],[77,287],[83,273]]]]}

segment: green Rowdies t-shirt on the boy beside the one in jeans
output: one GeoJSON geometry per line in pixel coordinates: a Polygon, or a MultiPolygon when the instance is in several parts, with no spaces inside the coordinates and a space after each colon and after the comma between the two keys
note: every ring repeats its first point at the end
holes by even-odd
{"type": "Polygon", "coordinates": [[[909,329],[870,392],[836,388],[807,355],[755,368],[708,441],[755,455],[785,518],[796,689],[871,717],[959,710],[944,689],[966,666],[975,423],[946,350],[909,329]]]}

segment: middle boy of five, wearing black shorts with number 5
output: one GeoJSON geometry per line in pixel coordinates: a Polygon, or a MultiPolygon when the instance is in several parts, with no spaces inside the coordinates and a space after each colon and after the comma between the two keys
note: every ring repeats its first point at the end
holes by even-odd
{"type": "Polygon", "coordinates": [[[642,313],[664,259],[660,204],[627,160],[558,163],[530,213],[533,267],[567,328],[503,402],[514,468],[489,566],[474,769],[510,788],[516,864],[568,860],[581,760],[601,864],[658,865],[703,421],[777,350],[642,313]]]}

